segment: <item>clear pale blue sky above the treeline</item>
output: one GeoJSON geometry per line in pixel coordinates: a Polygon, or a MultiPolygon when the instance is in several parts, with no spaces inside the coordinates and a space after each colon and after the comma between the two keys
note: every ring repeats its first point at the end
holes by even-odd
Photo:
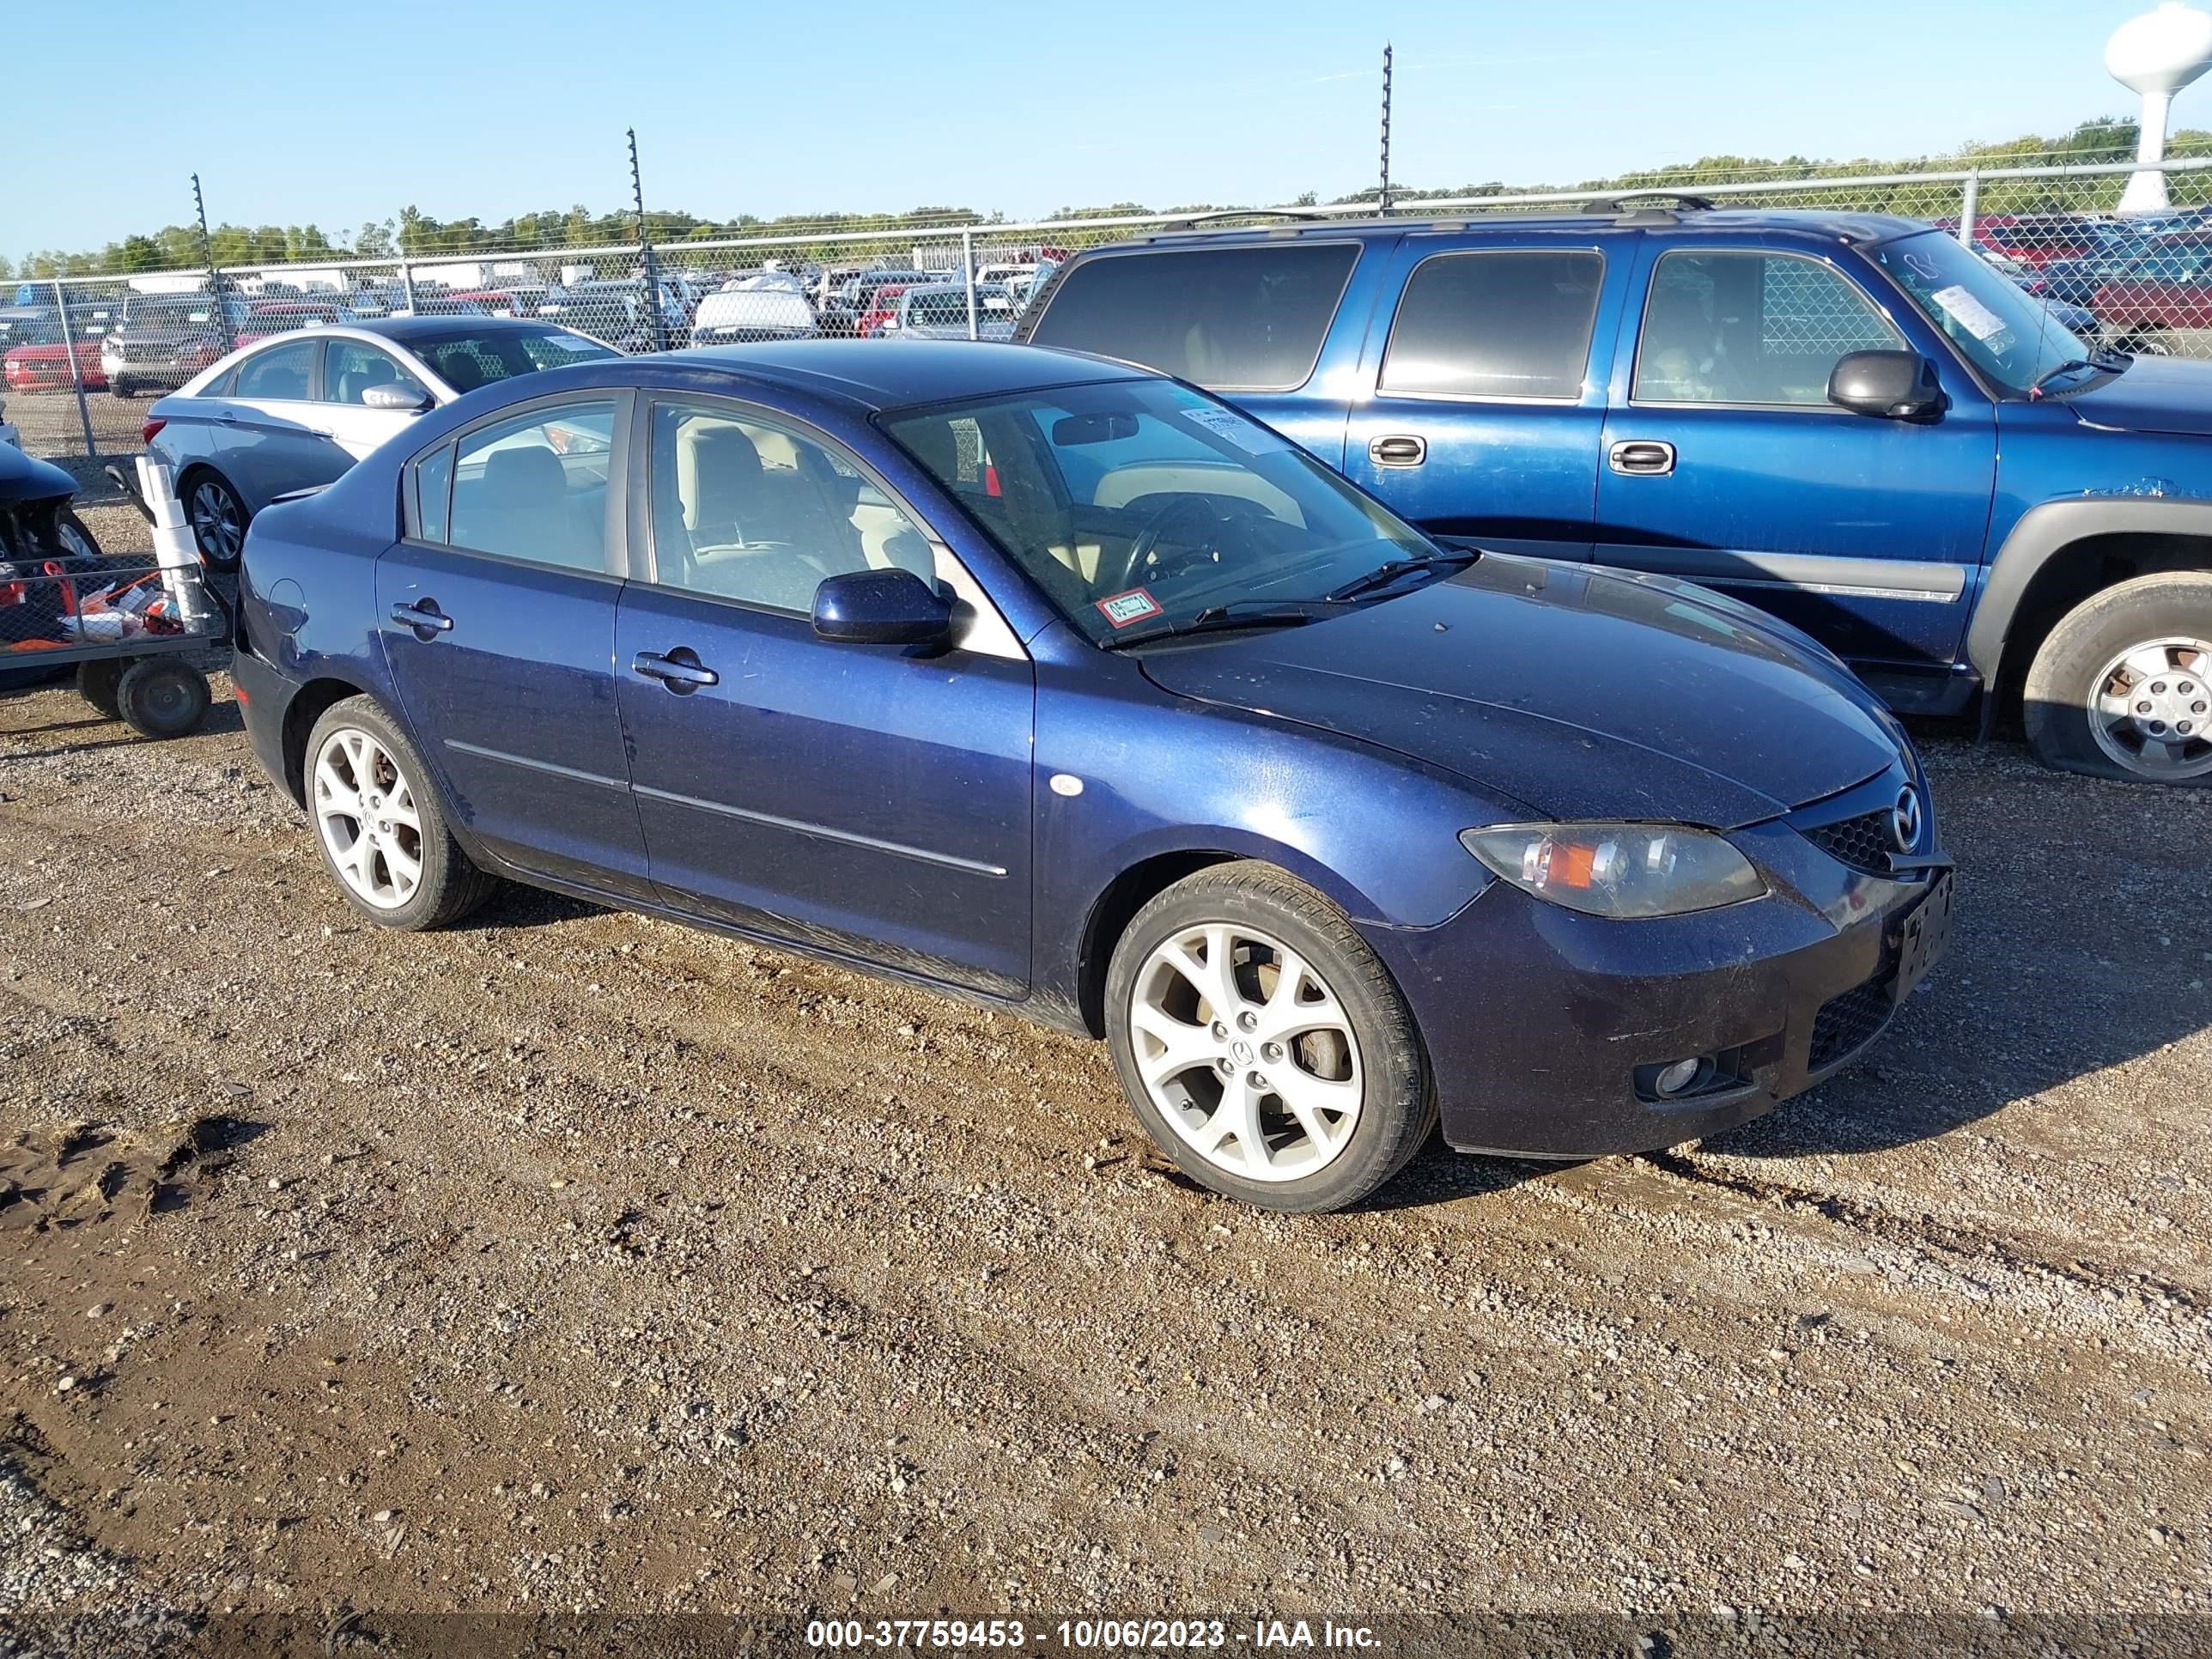
{"type": "MultiPolygon", "coordinates": [[[[190,212],[352,234],[628,195],[706,217],[1279,201],[1573,179],[1708,153],[1920,155],[2130,106],[2146,0],[13,7],[0,252],[190,212]]],[[[2212,126],[2212,82],[2177,100],[2212,126]],[[2201,106],[2201,108],[2199,108],[2201,106]]]]}

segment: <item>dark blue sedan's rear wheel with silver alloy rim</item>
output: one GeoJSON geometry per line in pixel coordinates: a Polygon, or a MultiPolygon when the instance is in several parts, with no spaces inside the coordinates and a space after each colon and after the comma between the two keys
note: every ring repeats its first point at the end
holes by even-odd
{"type": "Polygon", "coordinates": [[[473,911],[498,885],[453,841],[429,768],[369,697],[332,703],[307,734],[307,818],[345,902],[420,933],[473,911]]]}

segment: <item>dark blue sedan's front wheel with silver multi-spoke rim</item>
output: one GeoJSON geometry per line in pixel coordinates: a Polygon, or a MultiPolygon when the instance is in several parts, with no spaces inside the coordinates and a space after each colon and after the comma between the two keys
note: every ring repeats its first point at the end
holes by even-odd
{"type": "Polygon", "coordinates": [[[1159,1150],[1263,1210],[1358,1203],[1436,1126],[1389,971],[1272,865],[1201,869],[1137,911],[1106,973],[1106,1042],[1159,1150]]]}

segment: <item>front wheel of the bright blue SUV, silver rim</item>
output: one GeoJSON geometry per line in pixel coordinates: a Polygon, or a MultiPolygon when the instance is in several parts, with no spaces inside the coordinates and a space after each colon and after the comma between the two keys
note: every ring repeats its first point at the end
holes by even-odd
{"type": "Polygon", "coordinates": [[[2035,653],[2022,699],[2044,765],[2212,779],[2212,575],[2139,575],[2090,595],[2035,653]]]}

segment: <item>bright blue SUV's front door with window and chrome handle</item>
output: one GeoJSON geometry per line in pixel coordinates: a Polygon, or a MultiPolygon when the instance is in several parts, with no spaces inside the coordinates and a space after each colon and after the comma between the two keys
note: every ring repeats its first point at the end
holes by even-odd
{"type": "Polygon", "coordinates": [[[1838,409],[1847,352],[1905,336],[1843,265],[1659,248],[1613,376],[1597,557],[1705,582],[1869,668],[1947,668],[1973,602],[1997,438],[1951,361],[1940,420],[1838,409]]]}

